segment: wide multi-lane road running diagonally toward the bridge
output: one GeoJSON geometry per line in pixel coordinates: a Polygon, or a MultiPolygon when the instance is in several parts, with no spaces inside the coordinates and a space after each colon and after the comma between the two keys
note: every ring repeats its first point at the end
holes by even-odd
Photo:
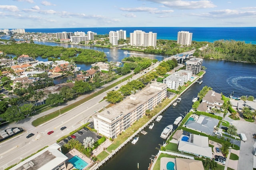
{"type": "MultiPolygon", "coordinates": [[[[188,53],[188,52],[186,52],[188,53]]],[[[172,57],[169,57],[165,60],[172,59],[172,57]]],[[[144,72],[149,72],[150,70],[156,68],[160,64],[160,62],[153,64],[149,68],[143,70],[139,74],[135,74],[130,78],[130,80],[127,80],[125,82],[122,82],[121,84],[117,84],[116,82],[118,80],[121,80],[124,77],[119,78],[118,80],[115,80],[111,83],[108,83],[104,85],[103,87],[109,86],[110,84],[115,84],[118,86],[118,89],[126,84],[128,81],[136,80],[140,76],[144,75],[144,72]]],[[[179,64],[178,68],[182,67],[182,64],[179,64]]],[[[178,69],[176,68],[176,69],[178,69]]],[[[132,74],[132,73],[130,73],[132,74]]],[[[129,74],[128,74],[129,75],[129,74]]],[[[127,76],[128,76],[127,75],[127,76]]],[[[102,87],[102,88],[103,88],[102,87]]],[[[115,87],[108,90],[118,90],[115,87]]],[[[99,89],[98,89],[99,90],[99,89]]],[[[94,92],[97,93],[98,90],[94,90],[94,92]]],[[[108,92],[106,91],[106,92],[108,92]]],[[[58,110],[59,108],[65,107],[66,105],[72,104],[78,100],[81,100],[82,98],[90,95],[84,95],[80,96],[79,98],[76,98],[73,101],[67,102],[64,106],[55,107],[53,109],[50,109],[48,111],[45,111],[43,113],[40,113],[36,116],[29,117],[27,119],[24,119],[22,121],[19,121],[17,123],[12,123],[8,126],[1,127],[0,130],[4,130],[10,127],[22,127],[26,130],[25,133],[22,133],[12,139],[9,139],[7,141],[4,141],[0,143],[0,169],[7,168],[11,166],[12,164],[15,164],[19,162],[21,159],[29,156],[30,154],[38,151],[39,149],[42,149],[45,146],[49,146],[56,142],[57,139],[60,137],[67,135],[71,131],[74,131],[84,123],[87,123],[90,119],[90,116],[95,114],[98,110],[102,109],[104,106],[108,105],[108,102],[102,101],[100,102],[104,96],[106,96],[106,92],[99,94],[95,98],[89,100],[88,102],[85,102],[84,104],[81,104],[80,106],[77,106],[76,108],[42,124],[38,127],[32,126],[32,121],[37,119],[38,117],[42,117],[44,115],[47,115],[49,113],[52,113],[53,111],[58,110]],[[67,129],[61,131],[60,128],[66,126],[67,129]],[[54,131],[51,135],[47,135],[48,131],[54,131]],[[26,138],[26,136],[29,133],[34,133],[35,135],[33,137],[30,137],[29,139],[26,138]]]]}

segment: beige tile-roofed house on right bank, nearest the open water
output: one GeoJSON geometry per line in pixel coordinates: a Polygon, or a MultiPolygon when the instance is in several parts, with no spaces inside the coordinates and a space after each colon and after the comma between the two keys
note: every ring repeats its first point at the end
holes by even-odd
{"type": "Polygon", "coordinates": [[[213,90],[209,90],[203,97],[202,102],[198,106],[198,111],[210,112],[213,108],[222,110],[221,106],[224,104],[224,100],[221,100],[220,93],[216,93],[213,90]]]}

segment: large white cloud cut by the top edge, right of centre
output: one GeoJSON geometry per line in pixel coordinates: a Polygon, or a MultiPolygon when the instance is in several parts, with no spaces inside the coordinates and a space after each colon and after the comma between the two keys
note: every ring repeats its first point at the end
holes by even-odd
{"type": "Polygon", "coordinates": [[[176,9],[198,9],[198,8],[214,8],[214,5],[209,0],[199,0],[199,1],[186,1],[186,0],[148,0],[150,2],[155,2],[158,4],[163,4],[169,8],[176,9]]]}

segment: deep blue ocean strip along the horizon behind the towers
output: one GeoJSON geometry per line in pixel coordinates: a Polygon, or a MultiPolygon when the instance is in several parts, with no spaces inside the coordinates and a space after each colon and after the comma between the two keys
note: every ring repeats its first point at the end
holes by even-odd
{"type": "Polygon", "coordinates": [[[108,34],[109,31],[126,30],[126,37],[134,30],[157,33],[157,39],[177,40],[178,31],[189,31],[193,33],[193,41],[214,42],[220,39],[245,41],[245,43],[256,44],[256,27],[92,27],[92,28],[41,28],[25,29],[26,32],[76,32],[93,31],[100,35],[108,34]]]}

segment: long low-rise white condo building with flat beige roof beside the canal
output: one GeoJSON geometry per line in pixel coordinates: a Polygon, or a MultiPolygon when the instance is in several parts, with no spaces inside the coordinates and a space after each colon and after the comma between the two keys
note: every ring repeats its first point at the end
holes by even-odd
{"type": "Polygon", "coordinates": [[[122,131],[138,121],[146,110],[152,110],[166,98],[167,86],[152,83],[137,94],[132,94],[123,102],[93,115],[94,128],[106,137],[116,138],[122,131]]]}

